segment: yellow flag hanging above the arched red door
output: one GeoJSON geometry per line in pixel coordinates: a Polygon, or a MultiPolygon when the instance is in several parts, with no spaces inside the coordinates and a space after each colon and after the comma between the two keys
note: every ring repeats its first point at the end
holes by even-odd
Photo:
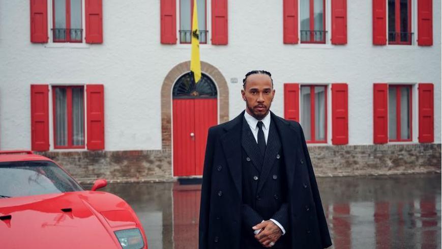
{"type": "Polygon", "coordinates": [[[198,11],[196,0],[193,0],[192,16],[192,55],[190,57],[190,71],[193,72],[195,83],[201,78],[201,62],[199,61],[199,30],[198,30],[198,11]]]}

